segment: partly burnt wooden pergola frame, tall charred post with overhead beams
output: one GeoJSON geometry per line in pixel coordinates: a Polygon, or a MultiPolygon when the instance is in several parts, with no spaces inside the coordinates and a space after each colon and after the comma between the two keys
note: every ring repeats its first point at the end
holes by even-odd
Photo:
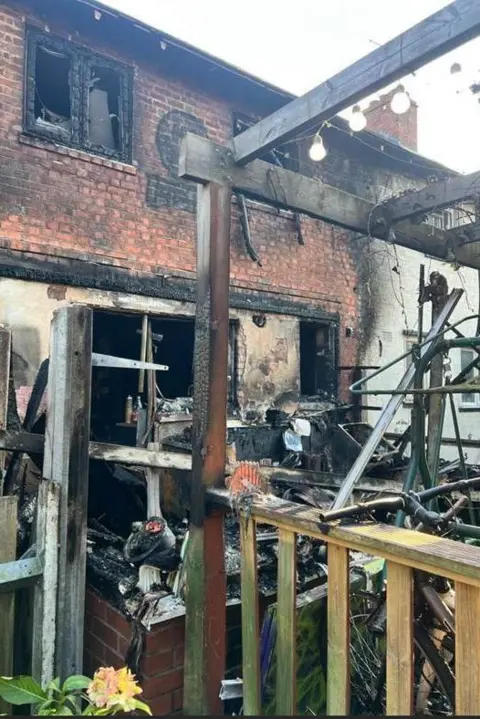
{"type": "MultiPolygon", "coordinates": [[[[436,183],[379,207],[320,180],[255,159],[480,34],[478,0],[455,0],[306,95],[239,134],[230,147],[183,141],[179,176],[199,183],[193,465],[187,586],[184,710],[222,713],[225,571],[221,516],[206,515],[209,488],[224,482],[231,193],[480,269],[478,245],[418,223],[437,207],[475,198],[475,175],[436,183]],[[393,230],[393,232],[392,232],[393,230]]],[[[480,173],[479,173],[480,174],[480,173]]]]}

